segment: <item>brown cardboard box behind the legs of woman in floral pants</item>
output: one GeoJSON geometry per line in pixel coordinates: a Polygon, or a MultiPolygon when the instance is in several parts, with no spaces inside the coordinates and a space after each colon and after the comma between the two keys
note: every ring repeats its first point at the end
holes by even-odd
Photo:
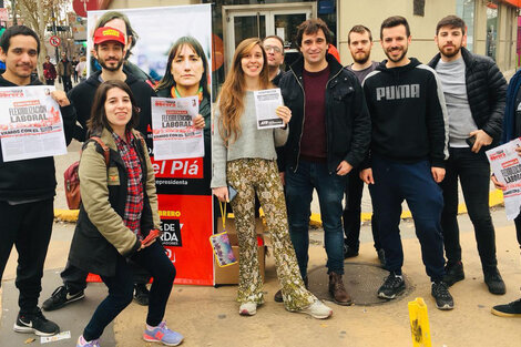
{"type": "MultiPolygon", "coordinates": [[[[256,229],[257,236],[263,238],[264,227],[263,227],[262,221],[258,218],[255,223],[255,229],[256,229]]],[[[221,218],[217,220],[217,232],[218,233],[223,232],[223,223],[221,222],[221,218]]],[[[235,255],[235,258],[238,262],[241,262],[238,257],[238,245],[237,245],[238,239],[237,239],[237,232],[235,229],[234,220],[231,220],[231,218],[226,220],[226,232],[228,233],[229,243],[232,244],[232,251],[235,255]]],[[[258,267],[259,267],[260,275],[263,276],[263,282],[264,282],[264,267],[265,267],[265,257],[266,257],[266,245],[264,245],[264,238],[263,238],[263,245],[257,247],[257,256],[258,256],[258,267]]],[[[234,265],[219,267],[214,257],[214,284],[215,285],[238,284],[238,262],[234,265]]]]}

